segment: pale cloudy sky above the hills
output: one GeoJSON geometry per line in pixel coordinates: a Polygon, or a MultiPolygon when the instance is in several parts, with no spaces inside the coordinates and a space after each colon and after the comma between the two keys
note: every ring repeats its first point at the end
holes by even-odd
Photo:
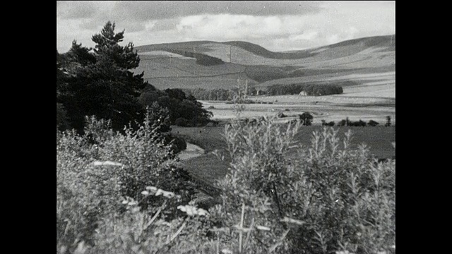
{"type": "Polygon", "coordinates": [[[135,46],[210,40],[271,51],[308,49],[396,33],[396,1],[57,1],[57,49],[91,37],[110,20],[135,46]]]}

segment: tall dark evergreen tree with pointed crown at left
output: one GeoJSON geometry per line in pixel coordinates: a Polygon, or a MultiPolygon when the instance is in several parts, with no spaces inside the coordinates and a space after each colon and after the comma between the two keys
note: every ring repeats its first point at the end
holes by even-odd
{"type": "Polygon", "coordinates": [[[90,115],[111,119],[115,131],[129,123],[134,126],[136,121],[143,122],[145,110],[138,97],[148,84],[143,80],[144,73],[132,72],[140,58],[131,42],[125,47],[119,45],[124,30],[115,33],[114,26],[107,22],[100,34],[93,35],[94,53],[75,41],[63,57],[57,52],[57,71],[66,73],[64,82],[59,82],[57,73],[57,92],[61,92],[60,101],[71,126],[78,131],[83,130],[84,116],[90,115]]]}

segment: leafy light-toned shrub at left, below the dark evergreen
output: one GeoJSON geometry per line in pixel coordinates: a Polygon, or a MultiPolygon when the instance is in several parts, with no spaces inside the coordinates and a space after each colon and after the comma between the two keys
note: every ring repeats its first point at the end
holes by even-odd
{"type": "MultiPolygon", "coordinates": [[[[124,133],[114,133],[107,127],[109,121],[92,117],[87,119],[85,134],[66,131],[57,135],[58,248],[73,250],[81,241],[93,246],[102,219],[124,212],[121,201],[126,197],[141,200],[146,186],[180,195],[165,214],[178,217],[175,205],[187,203],[194,193],[191,179],[174,162],[155,124],[148,121],[137,131],[126,128],[124,133]]],[[[162,202],[150,198],[138,204],[155,213],[162,202]]]]}

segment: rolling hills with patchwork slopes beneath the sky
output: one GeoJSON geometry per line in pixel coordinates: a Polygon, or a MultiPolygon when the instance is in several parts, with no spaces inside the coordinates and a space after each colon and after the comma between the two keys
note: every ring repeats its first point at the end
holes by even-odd
{"type": "Polygon", "coordinates": [[[212,41],[150,44],[135,49],[141,57],[136,72],[144,71],[145,80],[157,88],[232,88],[237,79],[247,79],[256,87],[334,80],[353,80],[365,86],[367,75],[385,73],[385,82],[395,87],[396,35],[292,52],[271,52],[249,42],[212,41]],[[199,64],[200,59],[218,61],[210,66],[199,64]]]}

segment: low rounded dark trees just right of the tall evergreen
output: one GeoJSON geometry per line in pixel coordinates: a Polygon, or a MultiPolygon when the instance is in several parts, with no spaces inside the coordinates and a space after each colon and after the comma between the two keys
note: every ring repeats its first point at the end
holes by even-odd
{"type": "Polygon", "coordinates": [[[181,89],[157,90],[148,85],[139,97],[139,102],[145,106],[157,104],[169,111],[167,124],[177,126],[205,126],[210,122],[212,112],[203,109],[193,95],[186,95],[181,89]]]}

